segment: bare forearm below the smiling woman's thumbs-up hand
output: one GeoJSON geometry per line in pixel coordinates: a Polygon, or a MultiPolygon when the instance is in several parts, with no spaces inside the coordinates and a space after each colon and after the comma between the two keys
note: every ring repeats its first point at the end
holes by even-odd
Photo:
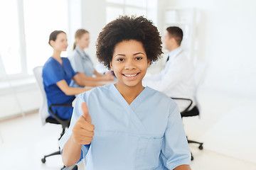
{"type": "Polygon", "coordinates": [[[82,145],[78,145],[73,141],[73,136],[65,143],[62,152],[62,160],[65,166],[72,166],[76,164],[81,157],[82,145]]]}

